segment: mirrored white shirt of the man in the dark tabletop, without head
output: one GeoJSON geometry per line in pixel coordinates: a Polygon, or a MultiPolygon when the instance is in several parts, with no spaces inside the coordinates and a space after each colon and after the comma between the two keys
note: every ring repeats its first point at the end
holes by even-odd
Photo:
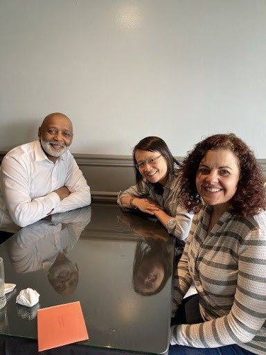
{"type": "Polygon", "coordinates": [[[22,228],[6,244],[12,268],[21,273],[49,270],[59,252],[71,252],[90,221],[88,206],[22,228]]]}

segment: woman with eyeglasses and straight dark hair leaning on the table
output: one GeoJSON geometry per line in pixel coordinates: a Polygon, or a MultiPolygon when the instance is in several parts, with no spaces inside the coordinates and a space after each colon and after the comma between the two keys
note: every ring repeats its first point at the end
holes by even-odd
{"type": "Polygon", "coordinates": [[[118,205],[156,216],[169,234],[186,241],[193,215],[179,205],[179,162],[159,137],[141,139],[133,159],[136,185],[118,194],[118,205]]]}

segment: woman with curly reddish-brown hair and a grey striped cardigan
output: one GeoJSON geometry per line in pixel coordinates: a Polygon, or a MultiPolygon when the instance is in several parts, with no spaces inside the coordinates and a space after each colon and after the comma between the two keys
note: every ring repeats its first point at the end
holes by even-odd
{"type": "Polygon", "coordinates": [[[169,354],[265,355],[266,200],[254,154],[236,135],[208,137],[184,159],[180,190],[195,215],[175,275],[169,354]],[[198,294],[182,302],[192,282],[198,294]]]}

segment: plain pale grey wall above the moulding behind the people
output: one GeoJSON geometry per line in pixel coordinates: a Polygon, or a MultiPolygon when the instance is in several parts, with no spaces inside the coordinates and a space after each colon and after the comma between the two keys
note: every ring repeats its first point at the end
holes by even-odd
{"type": "Polygon", "coordinates": [[[265,0],[0,0],[0,51],[0,150],[59,111],[73,153],[235,132],[266,157],[265,0]]]}

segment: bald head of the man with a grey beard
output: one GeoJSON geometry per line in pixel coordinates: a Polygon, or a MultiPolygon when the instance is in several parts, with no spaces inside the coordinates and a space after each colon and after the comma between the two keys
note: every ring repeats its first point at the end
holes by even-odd
{"type": "Polygon", "coordinates": [[[73,138],[71,120],[60,112],[48,114],[39,127],[38,136],[44,153],[55,163],[71,146],[73,138]]]}

